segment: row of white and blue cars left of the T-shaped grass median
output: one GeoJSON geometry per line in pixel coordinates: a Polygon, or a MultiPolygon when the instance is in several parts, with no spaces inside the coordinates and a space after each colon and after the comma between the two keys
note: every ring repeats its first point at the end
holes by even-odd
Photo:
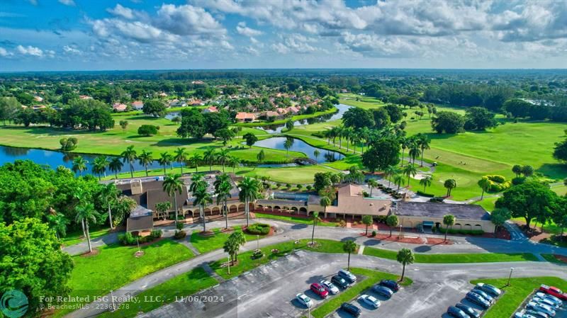
{"type": "MultiPolygon", "coordinates": [[[[478,283],[476,286],[466,293],[466,300],[473,302],[474,304],[487,310],[490,306],[494,304],[496,298],[502,294],[502,291],[495,288],[493,285],[488,285],[485,283],[478,283]]],[[[479,318],[481,313],[475,310],[471,306],[467,306],[463,303],[456,304],[447,308],[447,314],[451,317],[456,318],[479,318]]]]}

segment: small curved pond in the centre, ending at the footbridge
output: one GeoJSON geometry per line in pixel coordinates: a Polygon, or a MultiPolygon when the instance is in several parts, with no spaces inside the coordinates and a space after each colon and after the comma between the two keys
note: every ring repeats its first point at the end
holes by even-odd
{"type": "Polygon", "coordinates": [[[298,140],[291,137],[271,137],[256,142],[254,146],[280,149],[285,151],[285,143],[288,139],[292,141],[291,147],[289,147],[289,151],[303,152],[307,155],[307,157],[317,161],[319,164],[322,164],[324,162],[337,161],[344,158],[344,154],[341,154],[340,152],[333,152],[331,150],[313,147],[303,140],[298,140]],[[318,156],[315,156],[315,150],[319,152],[318,156]]]}

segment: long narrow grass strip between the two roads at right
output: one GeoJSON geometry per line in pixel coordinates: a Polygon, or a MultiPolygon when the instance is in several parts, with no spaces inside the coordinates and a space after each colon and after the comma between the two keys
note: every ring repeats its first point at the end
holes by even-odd
{"type": "MultiPolygon", "coordinates": [[[[376,256],[381,259],[393,259],[398,254],[396,251],[376,249],[366,246],[364,255],[376,256]]],[[[489,263],[505,261],[537,261],[537,257],[531,253],[477,253],[477,254],[417,254],[415,263],[489,263]]]]}

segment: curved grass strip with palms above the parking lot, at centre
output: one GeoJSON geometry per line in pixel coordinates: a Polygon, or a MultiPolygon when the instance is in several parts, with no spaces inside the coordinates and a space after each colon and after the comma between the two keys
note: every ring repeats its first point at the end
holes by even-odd
{"type": "MultiPolygon", "coordinates": [[[[318,242],[318,246],[315,248],[309,247],[307,245],[309,242],[311,242],[310,239],[301,239],[298,244],[294,241],[288,241],[262,247],[261,250],[264,252],[264,256],[259,259],[252,259],[253,251],[238,254],[238,263],[235,266],[230,266],[230,275],[228,274],[228,268],[221,267],[221,265],[226,262],[226,259],[224,258],[210,263],[210,268],[213,268],[219,276],[230,279],[250,271],[253,268],[257,268],[264,263],[268,263],[274,259],[279,259],[281,256],[286,256],[296,249],[306,249],[321,253],[344,253],[342,250],[342,242],[332,241],[330,239],[315,239],[315,242],[318,242]],[[274,249],[277,249],[278,251],[276,253],[272,253],[271,251],[274,249]]],[[[346,261],[347,259],[345,258],[345,263],[346,261]]]]}

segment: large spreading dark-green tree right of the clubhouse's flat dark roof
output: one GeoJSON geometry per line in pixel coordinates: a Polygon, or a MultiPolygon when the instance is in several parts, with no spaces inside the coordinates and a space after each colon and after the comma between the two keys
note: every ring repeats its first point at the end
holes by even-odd
{"type": "Polygon", "coordinates": [[[528,229],[532,220],[541,213],[553,210],[557,203],[557,195],[549,186],[537,181],[526,181],[512,186],[502,197],[496,200],[496,208],[507,208],[512,217],[523,217],[528,229]]]}

